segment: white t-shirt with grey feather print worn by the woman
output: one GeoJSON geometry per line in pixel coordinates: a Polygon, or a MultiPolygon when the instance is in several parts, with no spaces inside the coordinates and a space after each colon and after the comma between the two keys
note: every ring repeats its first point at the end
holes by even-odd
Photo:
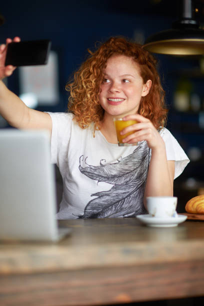
{"type": "MultiPolygon", "coordinates": [[[[151,150],[146,141],[136,146],[109,143],[93,126],[82,129],[71,113],[50,113],[51,161],[63,180],[58,219],[135,216],[145,213],[143,195],[151,150]]],[[[189,162],[166,129],[160,134],[168,160],[175,160],[177,177],[189,162]]]]}

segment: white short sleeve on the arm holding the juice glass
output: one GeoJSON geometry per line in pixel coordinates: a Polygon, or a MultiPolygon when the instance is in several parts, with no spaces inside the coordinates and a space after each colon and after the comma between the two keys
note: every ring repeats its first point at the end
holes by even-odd
{"type": "Polygon", "coordinates": [[[175,160],[174,178],[176,178],[182,173],[190,160],[167,128],[162,128],[160,135],[165,142],[167,160],[175,160]]]}

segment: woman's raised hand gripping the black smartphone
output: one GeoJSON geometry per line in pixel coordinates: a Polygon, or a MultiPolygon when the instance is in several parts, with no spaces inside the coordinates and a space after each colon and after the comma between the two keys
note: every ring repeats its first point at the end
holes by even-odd
{"type": "Polygon", "coordinates": [[[13,70],[16,68],[12,65],[7,65],[5,66],[5,56],[6,56],[6,50],[7,50],[7,44],[10,42],[19,42],[20,38],[19,37],[14,37],[13,40],[11,38],[6,38],[6,44],[1,44],[0,45],[0,79],[10,76],[13,72],[13,70]]]}

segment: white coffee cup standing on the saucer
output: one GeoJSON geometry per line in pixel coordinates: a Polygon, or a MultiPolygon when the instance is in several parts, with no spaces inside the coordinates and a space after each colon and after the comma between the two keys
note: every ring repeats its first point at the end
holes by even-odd
{"type": "Polygon", "coordinates": [[[156,218],[176,216],[176,196],[147,196],[146,207],[148,213],[156,218]]]}

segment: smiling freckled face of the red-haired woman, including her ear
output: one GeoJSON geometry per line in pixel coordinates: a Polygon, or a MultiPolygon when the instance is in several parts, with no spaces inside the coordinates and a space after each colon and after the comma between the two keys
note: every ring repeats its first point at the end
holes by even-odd
{"type": "Polygon", "coordinates": [[[140,99],[145,96],[151,81],[144,84],[138,64],[125,55],[112,55],[107,60],[100,85],[99,101],[104,116],[121,116],[138,111],[140,99]]]}

